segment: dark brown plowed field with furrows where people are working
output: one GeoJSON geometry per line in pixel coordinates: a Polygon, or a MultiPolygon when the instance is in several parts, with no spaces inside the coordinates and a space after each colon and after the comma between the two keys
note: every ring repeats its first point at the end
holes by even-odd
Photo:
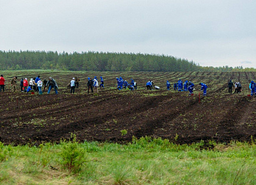
{"type": "MultiPolygon", "coordinates": [[[[80,141],[111,141],[127,143],[132,136],[168,138],[176,143],[201,140],[229,142],[249,141],[256,137],[256,98],[248,96],[249,82],[255,73],[206,72],[1,72],[7,82],[13,75],[41,79],[52,76],[59,85],[59,95],[30,95],[24,92],[0,93],[0,141],[5,144],[58,143],[75,133],[80,141]],[[71,95],[66,84],[72,77],[80,78],[80,87],[71,95]],[[105,89],[99,94],[87,93],[88,76],[102,76],[105,89]],[[130,82],[135,79],[138,89],[116,90],[116,76],[130,82]],[[178,79],[196,84],[194,96],[188,92],[166,90],[166,80],[178,79]],[[146,90],[151,79],[160,90],[146,90]],[[229,79],[240,81],[240,94],[227,93],[229,79]],[[208,85],[207,96],[200,96],[199,82],[208,85]],[[121,130],[127,130],[126,135],[121,130]],[[175,139],[174,139],[175,138],[175,139]]],[[[173,86],[173,85],[172,85],[173,86]]],[[[171,87],[172,87],[171,86],[171,87]]],[[[19,88],[18,88],[19,89],[19,88]]]]}

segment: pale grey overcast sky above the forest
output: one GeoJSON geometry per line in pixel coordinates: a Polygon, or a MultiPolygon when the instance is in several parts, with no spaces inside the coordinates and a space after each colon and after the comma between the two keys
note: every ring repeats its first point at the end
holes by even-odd
{"type": "Polygon", "coordinates": [[[256,64],[256,1],[0,0],[0,50],[157,53],[256,64]]]}

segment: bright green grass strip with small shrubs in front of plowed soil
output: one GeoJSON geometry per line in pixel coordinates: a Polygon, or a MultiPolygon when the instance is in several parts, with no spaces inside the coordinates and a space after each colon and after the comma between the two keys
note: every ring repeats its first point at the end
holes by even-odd
{"type": "Polygon", "coordinates": [[[126,145],[0,144],[0,184],[256,184],[253,142],[210,145],[214,149],[149,137],[126,145]],[[67,169],[68,161],[79,168],[67,169]]]}

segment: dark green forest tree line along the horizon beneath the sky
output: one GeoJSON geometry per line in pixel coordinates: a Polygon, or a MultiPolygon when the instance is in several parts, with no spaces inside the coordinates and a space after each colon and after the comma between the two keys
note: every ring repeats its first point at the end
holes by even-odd
{"type": "MultiPolygon", "coordinates": [[[[194,61],[168,55],[110,52],[0,51],[1,70],[51,69],[110,72],[230,72],[240,67],[202,67],[194,61]]],[[[254,69],[253,69],[254,70],[254,69]]]]}

